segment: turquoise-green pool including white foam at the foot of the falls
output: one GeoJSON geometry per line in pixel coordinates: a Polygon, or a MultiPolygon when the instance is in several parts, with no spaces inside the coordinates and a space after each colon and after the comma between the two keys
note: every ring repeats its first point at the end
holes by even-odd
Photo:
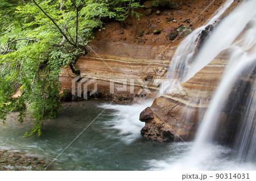
{"type": "Polygon", "coordinates": [[[19,125],[14,118],[9,119],[12,121],[6,121],[5,127],[0,126],[0,148],[26,151],[28,155],[52,161],[95,119],[48,169],[256,170],[255,163],[236,161],[232,150],[225,146],[205,145],[194,150],[195,154],[191,151],[193,142],[146,140],[140,134],[144,123],[139,121],[139,113],[147,105],[109,106],[110,103],[97,100],[65,103],[56,119],[44,121],[40,137],[22,138],[31,123],[19,125]]]}

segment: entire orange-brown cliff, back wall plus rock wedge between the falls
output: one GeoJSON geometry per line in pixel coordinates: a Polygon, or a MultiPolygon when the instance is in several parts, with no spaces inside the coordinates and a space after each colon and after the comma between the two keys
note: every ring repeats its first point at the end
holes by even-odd
{"type": "MultiPolygon", "coordinates": [[[[145,7],[138,10],[142,14],[140,20],[108,22],[104,30],[95,32],[95,39],[88,46],[89,53],[76,63],[82,78],[93,80],[88,91],[97,84],[93,98],[127,102],[155,98],[159,83],[154,80],[165,77],[177,45],[195,28],[205,24],[223,3],[219,0],[214,3],[172,2],[177,5],[175,9],[155,7],[151,1],[146,1],[145,7]],[[182,27],[188,27],[185,35],[179,32],[182,27]]],[[[238,1],[234,1],[226,13],[237,4],[238,1]]],[[[145,122],[141,134],[157,141],[192,140],[197,123],[220,81],[227,57],[228,54],[222,52],[183,83],[184,94],[165,94],[155,99],[152,106],[148,105],[140,116],[145,122]]],[[[62,89],[71,90],[75,77],[69,68],[63,68],[62,89]]]]}

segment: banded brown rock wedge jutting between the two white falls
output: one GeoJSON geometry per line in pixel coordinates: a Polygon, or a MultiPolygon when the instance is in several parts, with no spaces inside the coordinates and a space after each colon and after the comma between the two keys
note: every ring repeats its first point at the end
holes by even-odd
{"type": "MultiPolygon", "coordinates": [[[[206,111],[227,64],[228,54],[222,52],[189,81],[183,83],[182,94],[172,92],[156,98],[150,108],[141,113],[144,137],[157,141],[192,140],[198,122],[206,111]],[[143,119],[146,115],[148,119],[143,119]],[[157,129],[157,131],[156,131],[157,129]]],[[[180,90],[181,91],[181,90],[180,90]]]]}

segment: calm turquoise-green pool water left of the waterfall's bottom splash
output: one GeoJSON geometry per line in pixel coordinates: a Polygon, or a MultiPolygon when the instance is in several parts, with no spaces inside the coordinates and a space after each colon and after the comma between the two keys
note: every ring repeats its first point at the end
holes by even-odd
{"type": "MultiPolygon", "coordinates": [[[[22,138],[23,133],[28,131],[27,124],[12,127],[6,124],[5,128],[0,128],[0,147],[25,150],[30,155],[54,159],[109,103],[84,101],[65,104],[56,119],[46,120],[40,137],[22,138]]],[[[133,125],[133,130],[127,128],[126,132],[129,123],[122,124],[122,121],[129,120],[118,117],[118,110],[113,110],[115,107],[122,108],[122,105],[111,106],[52,163],[56,170],[147,170],[150,169],[147,161],[170,155],[172,145],[175,149],[188,149],[183,144],[145,140],[139,132],[143,123],[138,119],[133,121],[138,121],[139,126],[133,125]]]]}

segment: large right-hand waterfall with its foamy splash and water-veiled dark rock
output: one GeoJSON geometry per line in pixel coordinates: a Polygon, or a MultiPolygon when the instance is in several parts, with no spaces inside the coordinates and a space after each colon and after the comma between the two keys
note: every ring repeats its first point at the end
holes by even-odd
{"type": "Polygon", "coordinates": [[[229,64],[191,146],[192,151],[163,161],[148,161],[151,170],[256,169],[255,6],[256,1],[245,1],[218,24],[196,58],[194,72],[187,75],[193,76],[222,50],[230,54],[229,64]],[[218,36],[224,41],[214,40],[218,36]],[[200,60],[207,61],[197,66],[200,60]]]}

